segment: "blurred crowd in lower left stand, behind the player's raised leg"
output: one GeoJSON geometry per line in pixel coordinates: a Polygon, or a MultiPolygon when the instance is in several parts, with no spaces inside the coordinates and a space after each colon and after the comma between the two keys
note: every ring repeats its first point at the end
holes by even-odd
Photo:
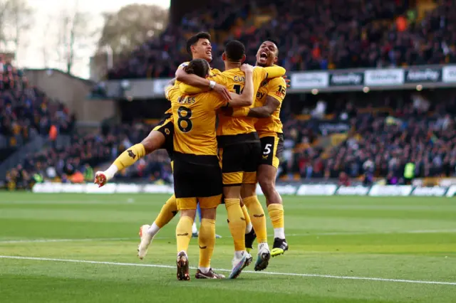
{"type": "MultiPolygon", "coordinates": [[[[122,124],[103,127],[99,134],[60,134],[58,139],[69,139],[69,144],[49,145],[35,154],[29,154],[6,175],[5,186],[30,188],[36,182],[62,183],[92,182],[98,166],[115,159],[120,153],[140,142],[150,132],[146,124],[122,124]]],[[[57,140],[58,142],[58,140],[57,140]]],[[[165,150],[140,159],[134,166],[121,171],[118,180],[147,179],[170,183],[172,171],[165,150]]]]}

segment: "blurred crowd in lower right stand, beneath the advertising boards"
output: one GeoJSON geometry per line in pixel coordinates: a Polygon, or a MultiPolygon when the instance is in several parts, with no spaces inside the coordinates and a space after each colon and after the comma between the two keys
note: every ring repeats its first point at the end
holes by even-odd
{"type": "MultiPolygon", "coordinates": [[[[383,106],[385,101],[383,101],[383,106]]],[[[319,146],[326,132],[316,118],[290,120],[281,176],[298,172],[300,178],[358,178],[371,184],[386,178],[405,183],[405,166],[413,164],[415,177],[456,176],[456,99],[430,102],[420,94],[386,110],[358,108],[351,103],[332,118],[346,125],[348,136],[331,149],[319,146]]]]}

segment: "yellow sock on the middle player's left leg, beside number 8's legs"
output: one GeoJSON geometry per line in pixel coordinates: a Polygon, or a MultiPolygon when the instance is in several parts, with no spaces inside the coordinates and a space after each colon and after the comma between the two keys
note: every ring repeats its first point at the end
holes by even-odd
{"type": "Polygon", "coordinates": [[[242,213],[241,200],[225,198],[228,227],[234,240],[234,250],[245,250],[245,218],[242,213]]]}

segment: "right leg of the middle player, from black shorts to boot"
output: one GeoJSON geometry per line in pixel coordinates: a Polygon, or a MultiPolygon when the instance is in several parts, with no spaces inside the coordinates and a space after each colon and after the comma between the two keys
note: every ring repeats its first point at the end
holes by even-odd
{"type": "MultiPolygon", "coordinates": [[[[242,184],[242,201],[249,210],[252,225],[258,238],[258,254],[255,270],[264,270],[269,265],[271,252],[267,242],[266,217],[257,197],[257,169],[261,154],[261,144],[249,144],[249,156],[246,157],[244,166],[244,179],[242,184]]],[[[246,243],[247,245],[247,243],[246,243]]]]}

